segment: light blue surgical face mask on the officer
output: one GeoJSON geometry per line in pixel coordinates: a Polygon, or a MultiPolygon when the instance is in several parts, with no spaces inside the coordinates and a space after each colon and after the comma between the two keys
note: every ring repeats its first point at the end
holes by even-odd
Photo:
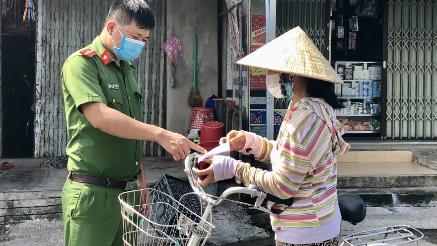
{"type": "Polygon", "coordinates": [[[120,48],[117,48],[115,46],[114,40],[112,39],[112,35],[111,35],[111,40],[112,43],[114,44],[114,54],[118,57],[118,59],[122,61],[127,61],[127,62],[134,61],[140,56],[141,52],[143,51],[145,42],[132,38],[127,38],[126,35],[123,35],[123,33],[121,33],[120,28],[118,28],[118,25],[117,25],[117,29],[120,32],[120,34],[123,36],[123,39],[121,40],[120,48]]]}

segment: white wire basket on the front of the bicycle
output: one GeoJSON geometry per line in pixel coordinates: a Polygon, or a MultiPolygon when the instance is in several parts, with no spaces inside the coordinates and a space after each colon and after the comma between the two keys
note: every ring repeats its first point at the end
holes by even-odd
{"type": "Polygon", "coordinates": [[[123,192],[118,199],[124,246],[203,246],[215,228],[181,202],[156,189],[123,192]],[[150,200],[142,203],[145,192],[150,200]],[[150,205],[150,211],[143,216],[140,211],[146,205],[150,205]]]}

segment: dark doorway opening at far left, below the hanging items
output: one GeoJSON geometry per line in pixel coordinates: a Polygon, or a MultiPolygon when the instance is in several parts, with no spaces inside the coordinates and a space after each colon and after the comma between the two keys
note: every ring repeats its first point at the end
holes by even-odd
{"type": "Polygon", "coordinates": [[[35,33],[10,32],[3,26],[1,55],[2,157],[30,158],[34,146],[35,33]]]}

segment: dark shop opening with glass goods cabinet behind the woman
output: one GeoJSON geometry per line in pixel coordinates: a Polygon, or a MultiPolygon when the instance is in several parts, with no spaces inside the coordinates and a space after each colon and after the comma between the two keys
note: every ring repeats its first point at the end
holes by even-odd
{"type": "MultiPolygon", "coordinates": [[[[349,140],[385,136],[387,80],[383,60],[384,1],[333,0],[331,62],[345,86],[336,88],[337,112],[349,140]]],[[[386,33],[385,33],[386,35],[386,33]]]]}

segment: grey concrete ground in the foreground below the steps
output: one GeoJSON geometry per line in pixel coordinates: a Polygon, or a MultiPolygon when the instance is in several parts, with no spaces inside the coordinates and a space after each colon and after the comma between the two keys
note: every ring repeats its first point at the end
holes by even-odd
{"type": "MultiPolygon", "coordinates": [[[[244,211],[237,211],[237,206],[219,206],[216,213],[226,212],[225,219],[216,219],[213,224],[217,227],[213,230],[215,243],[210,245],[251,245],[267,246],[273,242],[271,238],[256,241],[238,241],[234,237],[239,233],[245,234],[248,228],[241,228],[247,216],[242,216],[244,211]],[[237,212],[237,213],[235,213],[237,212]],[[242,219],[242,221],[241,221],[242,219]],[[240,220],[240,221],[238,221],[240,220]],[[235,223],[239,222],[239,223],[235,223]],[[239,225],[240,227],[235,228],[239,225]],[[221,239],[218,241],[218,238],[221,239]],[[226,243],[228,242],[228,243],[226,243]],[[267,243],[270,242],[270,243],[267,243]]],[[[244,213],[245,214],[245,213],[244,213]]],[[[428,232],[428,237],[420,242],[421,246],[436,246],[437,242],[437,207],[426,208],[367,208],[367,218],[357,226],[343,223],[342,236],[372,228],[390,225],[409,225],[421,231],[428,232]]],[[[63,222],[61,220],[30,220],[23,223],[9,225],[8,228],[0,228],[0,246],[63,246],[63,222]]],[[[213,242],[214,243],[214,242],[213,242]]],[[[412,244],[405,244],[405,246],[412,244]]]]}

